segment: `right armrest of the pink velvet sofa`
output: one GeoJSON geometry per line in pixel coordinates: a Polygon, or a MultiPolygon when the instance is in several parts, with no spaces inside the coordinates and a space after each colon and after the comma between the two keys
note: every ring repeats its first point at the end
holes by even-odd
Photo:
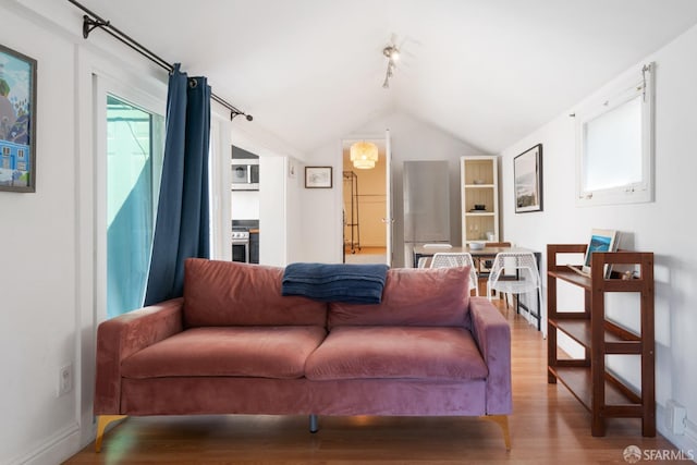
{"type": "Polygon", "coordinates": [[[469,298],[473,335],[484,357],[487,378],[487,414],[508,415],[513,409],[511,393],[511,328],[486,297],[469,298]]]}

